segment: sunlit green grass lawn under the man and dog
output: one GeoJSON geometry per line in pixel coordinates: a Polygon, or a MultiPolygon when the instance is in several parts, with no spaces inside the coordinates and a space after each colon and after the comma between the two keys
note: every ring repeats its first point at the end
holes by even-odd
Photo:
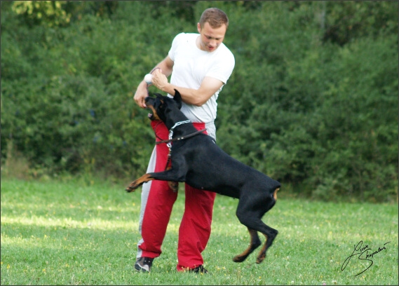
{"type": "Polygon", "coordinates": [[[180,193],[161,257],[151,273],[135,273],[141,191],[125,193],[127,184],[1,179],[1,285],[398,285],[398,205],[310,202],[283,189],[264,216],[279,235],[262,264],[257,253],[231,260],[248,231],[235,216],[238,200],[217,196],[203,252],[212,275],[177,273],[180,193]],[[355,277],[367,261],[341,266],[360,240],[372,250],[391,243],[355,277]]]}

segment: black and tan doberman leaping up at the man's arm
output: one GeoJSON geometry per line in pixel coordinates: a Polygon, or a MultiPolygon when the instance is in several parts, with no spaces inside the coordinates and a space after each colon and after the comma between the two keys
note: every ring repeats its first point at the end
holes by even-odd
{"type": "MultiPolygon", "coordinates": [[[[186,182],[196,189],[238,198],[236,215],[241,224],[248,227],[251,240],[248,249],[234,257],[233,261],[244,261],[261,245],[259,231],[266,237],[256,261],[261,263],[278,234],[276,229],[262,222],[262,217],[276,203],[280,183],[226,154],[217,147],[212,137],[203,133],[204,130],[198,132],[180,111],[182,97],[177,90],[173,98],[158,93],[155,95],[156,98],[146,97],[145,103],[151,109],[149,118],[163,121],[170,135],[173,134],[169,140],[165,140],[173,142],[170,148],[172,168],[147,173],[131,182],[126,191],[130,193],[143,183],[158,179],[186,182]]],[[[174,191],[177,191],[177,184],[174,191]]]]}

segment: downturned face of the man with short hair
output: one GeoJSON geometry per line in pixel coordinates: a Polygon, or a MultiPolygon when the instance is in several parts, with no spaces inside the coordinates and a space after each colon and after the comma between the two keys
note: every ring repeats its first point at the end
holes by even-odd
{"type": "Polygon", "coordinates": [[[201,25],[197,24],[198,33],[200,33],[199,46],[201,50],[213,52],[223,42],[224,35],[226,34],[226,25],[218,28],[210,27],[208,22],[205,22],[201,29],[201,25]]]}

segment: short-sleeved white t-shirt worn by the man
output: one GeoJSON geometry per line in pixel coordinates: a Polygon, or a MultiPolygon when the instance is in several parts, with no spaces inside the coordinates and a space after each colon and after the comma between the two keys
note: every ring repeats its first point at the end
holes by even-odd
{"type": "MultiPolygon", "coordinates": [[[[173,60],[173,72],[170,83],[182,88],[198,89],[205,76],[219,79],[224,84],[234,69],[234,55],[224,43],[213,52],[201,50],[196,46],[199,34],[180,33],[173,39],[169,57],[173,60]]],[[[201,107],[182,104],[182,112],[194,122],[203,122],[208,135],[216,139],[215,118],[217,96],[223,86],[201,107]]]]}

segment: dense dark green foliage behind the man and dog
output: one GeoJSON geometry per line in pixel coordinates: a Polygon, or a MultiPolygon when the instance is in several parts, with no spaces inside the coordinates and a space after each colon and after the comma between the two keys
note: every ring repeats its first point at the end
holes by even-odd
{"type": "Polygon", "coordinates": [[[1,1],[2,175],[141,175],[135,87],[210,6],[236,57],[219,146],[293,195],[397,200],[396,1],[1,1]]]}

